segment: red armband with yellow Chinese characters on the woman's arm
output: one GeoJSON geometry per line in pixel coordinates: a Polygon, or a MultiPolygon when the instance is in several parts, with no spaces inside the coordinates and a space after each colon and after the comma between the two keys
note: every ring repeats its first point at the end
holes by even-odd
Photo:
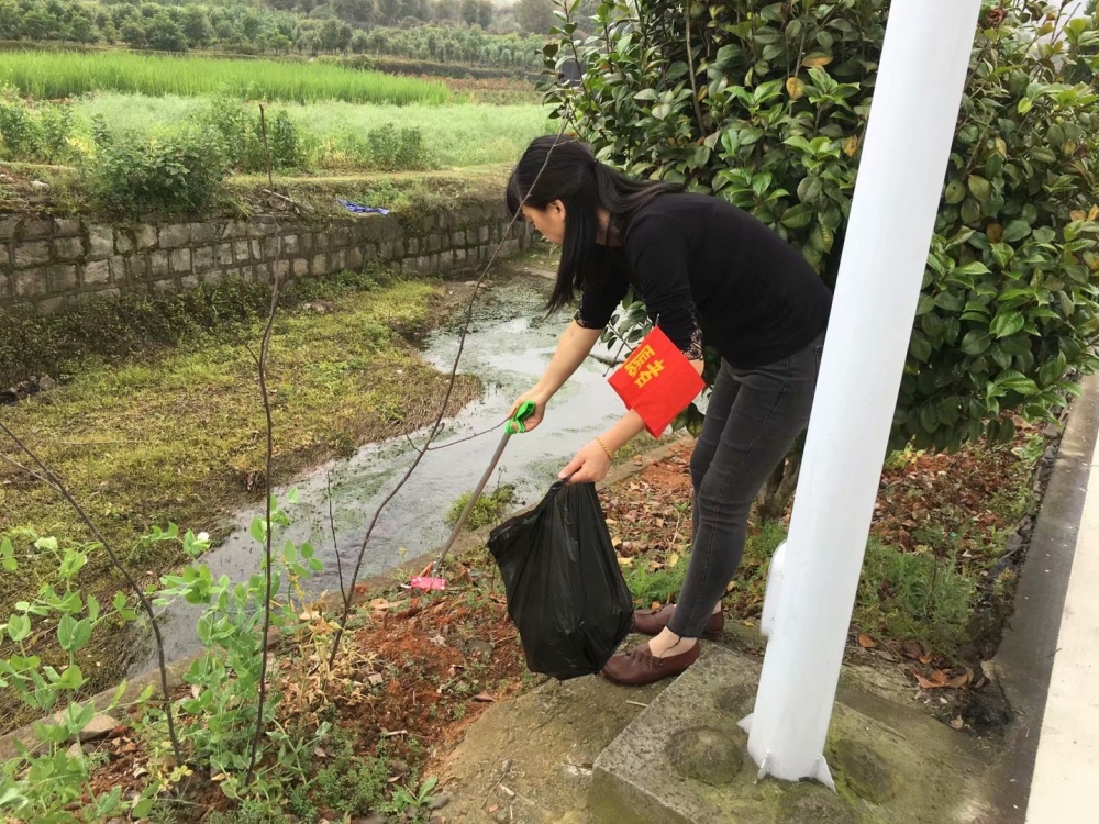
{"type": "Polygon", "coordinates": [[[610,385],[659,437],[687,404],[706,388],[687,357],[659,329],[654,329],[625,364],[610,377],[610,385]]]}

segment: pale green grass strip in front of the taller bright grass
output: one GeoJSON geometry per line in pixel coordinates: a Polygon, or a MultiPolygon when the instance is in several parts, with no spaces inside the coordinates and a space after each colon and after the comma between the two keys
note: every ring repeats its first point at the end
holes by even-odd
{"type": "MultiPolygon", "coordinates": [[[[77,130],[90,134],[101,115],[115,132],[167,133],[210,107],[201,97],[97,93],[75,104],[77,130]]],[[[295,123],[322,144],[323,168],[354,165],[348,144],[393,123],[419,129],[428,153],[443,167],[513,164],[534,137],[550,131],[546,109],[526,105],[356,105],[336,100],[287,104],[295,123]]]]}

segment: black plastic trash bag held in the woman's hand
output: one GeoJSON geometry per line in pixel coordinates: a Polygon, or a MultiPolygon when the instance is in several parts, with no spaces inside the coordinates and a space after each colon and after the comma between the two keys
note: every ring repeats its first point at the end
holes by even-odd
{"type": "Polygon", "coordinates": [[[555,483],[532,512],[492,531],[508,613],[532,672],[558,680],[599,672],[633,624],[592,483],[555,483]]]}

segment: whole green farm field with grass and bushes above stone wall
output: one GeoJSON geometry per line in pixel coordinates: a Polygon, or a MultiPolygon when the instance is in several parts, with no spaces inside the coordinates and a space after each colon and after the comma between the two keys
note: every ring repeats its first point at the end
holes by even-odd
{"type": "MultiPolygon", "coordinates": [[[[298,176],[470,168],[512,163],[550,129],[530,83],[469,83],[328,62],[0,52],[0,160],[46,165],[108,212],[201,211],[268,157],[298,176]],[[166,177],[177,165],[188,174],[166,177]]],[[[20,202],[0,181],[0,203],[20,202]]]]}

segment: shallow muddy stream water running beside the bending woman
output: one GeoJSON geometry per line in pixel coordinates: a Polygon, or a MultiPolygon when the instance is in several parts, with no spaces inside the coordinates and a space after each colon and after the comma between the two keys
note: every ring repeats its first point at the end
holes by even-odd
{"type": "MultiPolygon", "coordinates": [[[[460,441],[501,424],[514,398],[542,375],[567,318],[543,320],[542,305],[548,290],[547,279],[531,274],[498,276],[495,285],[482,290],[474,310],[460,371],[479,378],[484,391],[479,400],[446,422],[436,444],[460,441]]],[[[424,359],[448,372],[458,347],[458,331],[456,321],[435,330],[426,342],[424,359]]],[[[610,357],[611,353],[600,345],[595,354],[610,357]]],[[[517,508],[542,497],[577,448],[621,414],[621,401],[604,378],[607,368],[595,358],[580,367],[554,398],[537,431],[511,438],[487,491],[497,483],[514,486],[517,508]]],[[[477,483],[501,434],[502,428],[497,428],[489,435],[428,453],[382,513],[367,546],[360,577],[385,572],[406,557],[433,553],[442,546],[449,534],[445,522],[447,511],[458,495],[477,483]]],[[[425,436],[426,431],[419,432],[411,439],[422,444],[425,436]]],[[[403,437],[370,444],[348,460],[321,466],[277,490],[282,498],[288,489],[297,489],[299,502],[287,508],[293,523],[276,535],[276,547],[288,538],[297,544],[308,541],[324,563],[324,571],[308,582],[311,594],[340,591],[329,525],[329,479],[336,545],[346,572],[354,565],[374,511],[407,470],[414,454],[403,437]]],[[[260,547],[249,537],[248,526],[253,517],[262,514],[256,506],[233,516],[233,533],[203,557],[214,577],[227,575],[233,580],[243,580],[259,569],[260,547]]],[[[165,612],[162,633],[168,660],[199,650],[195,634],[199,612],[199,608],[184,602],[165,612]]],[[[151,649],[138,656],[131,675],[154,666],[151,649]]]]}

